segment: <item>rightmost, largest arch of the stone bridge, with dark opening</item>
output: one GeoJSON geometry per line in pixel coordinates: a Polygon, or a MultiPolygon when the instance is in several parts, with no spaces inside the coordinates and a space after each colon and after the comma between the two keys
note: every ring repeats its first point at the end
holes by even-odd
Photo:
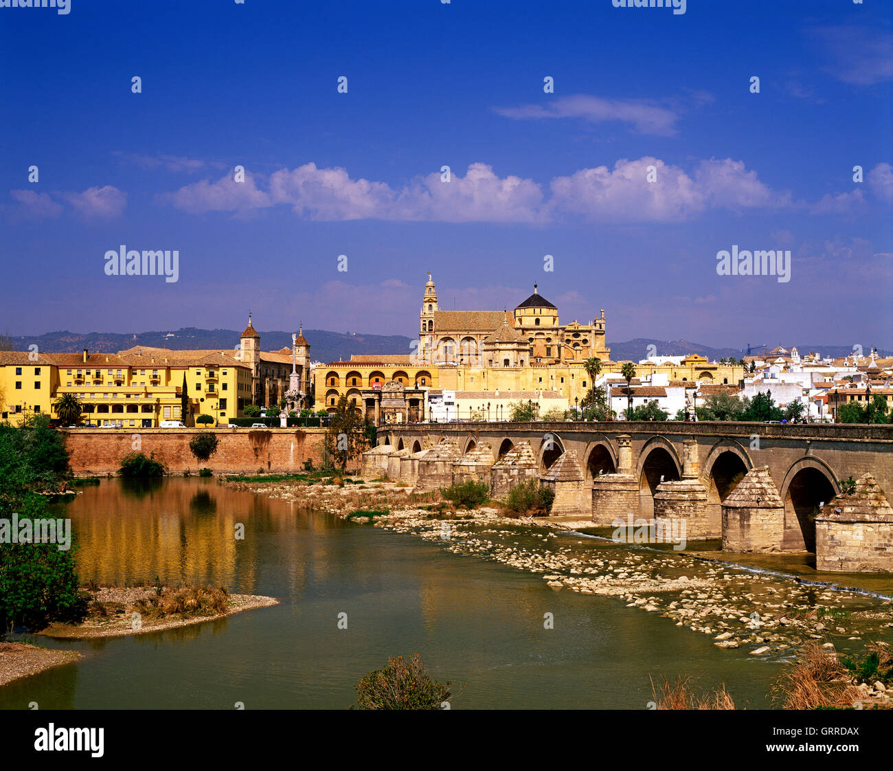
{"type": "Polygon", "coordinates": [[[839,495],[837,474],[820,457],[801,457],[781,482],[784,503],[782,549],[815,551],[815,513],[822,503],[839,495]]]}

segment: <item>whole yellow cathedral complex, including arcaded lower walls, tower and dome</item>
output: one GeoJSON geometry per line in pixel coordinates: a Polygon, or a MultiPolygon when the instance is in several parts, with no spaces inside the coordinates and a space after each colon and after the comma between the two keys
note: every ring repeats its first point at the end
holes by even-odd
{"type": "MultiPolygon", "coordinates": [[[[317,402],[333,411],[346,395],[358,409],[370,412],[363,390],[380,389],[388,381],[406,388],[455,392],[555,392],[576,406],[593,386],[586,371],[597,358],[601,372],[620,377],[622,362],[611,361],[605,347],[605,311],[592,324],[562,326],[558,309],[534,292],[509,311],[441,311],[430,279],[421,306],[418,354],[351,356],[315,372],[317,402]]],[[[715,365],[690,354],[679,364],[634,363],[636,377],[665,375],[667,381],[738,385],[744,365],[715,365]]],[[[489,399],[493,403],[493,399],[489,399]]]]}

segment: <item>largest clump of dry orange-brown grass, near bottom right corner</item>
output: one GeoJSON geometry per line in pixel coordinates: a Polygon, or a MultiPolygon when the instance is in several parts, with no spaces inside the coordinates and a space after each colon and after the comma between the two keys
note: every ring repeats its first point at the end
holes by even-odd
{"type": "Polygon", "coordinates": [[[772,700],[785,709],[852,707],[862,692],[851,681],[852,675],[837,654],[811,642],[772,686],[772,700]]]}

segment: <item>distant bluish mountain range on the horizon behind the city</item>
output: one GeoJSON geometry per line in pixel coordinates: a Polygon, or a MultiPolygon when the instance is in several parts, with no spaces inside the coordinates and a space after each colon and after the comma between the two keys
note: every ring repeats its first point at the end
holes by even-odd
{"type": "MultiPolygon", "coordinates": [[[[28,350],[29,345],[37,345],[39,351],[46,353],[73,353],[88,348],[91,351],[108,353],[143,345],[154,348],[174,348],[183,350],[187,348],[219,348],[230,350],[238,347],[236,330],[200,330],[196,327],[186,327],[177,331],[153,331],[138,332],[136,334],[121,334],[118,332],[46,332],[42,335],[23,335],[12,337],[13,349],[28,350]]],[[[291,332],[260,331],[261,346],[263,350],[279,350],[291,345],[291,332]]],[[[310,342],[310,355],[314,361],[333,362],[349,359],[351,354],[410,354],[413,352],[411,343],[413,339],[403,335],[366,335],[355,332],[330,332],[326,330],[305,330],[305,338],[310,342]]],[[[768,348],[755,348],[754,356],[761,352],[775,348],[772,344],[768,348]]],[[[701,343],[693,343],[688,340],[659,340],[651,338],[636,338],[625,342],[611,342],[611,358],[613,361],[630,359],[638,362],[647,358],[649,354],[657,356],[685,356],[686,354],[700,354],[710,360],[728,358],[734,356],[741,358],[747,355],[747,350],[739,348],[711,348],[701,343]],[[649,350],[650,346],[654,346],[649,350]]],[[[789,343],[784,343],[785,348],[789,343]]],[[[867,356],[870,345],[864,345],[864,353],[867,356]]],[[[849,356],[853,353],[853,346],[822,346],[822,345],[798,345],[797,350],[801,355],[810,351],[818,351],[822,356],[849,356]]],[[[889,352],[880,351],[881,356],[889,356],[889,352]]]]}

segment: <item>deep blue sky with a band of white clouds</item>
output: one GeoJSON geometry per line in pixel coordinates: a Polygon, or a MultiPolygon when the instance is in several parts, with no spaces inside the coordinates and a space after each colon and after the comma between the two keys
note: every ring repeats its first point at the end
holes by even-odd
{"type": "Polygon", "coordinates": [[[0,330],[413,335],[430,270],[609,341],[893,348],[893,5],[552,5],[0,7],[0,330]],[[179,280],[106,275],[121,244],[179,280]]]}

